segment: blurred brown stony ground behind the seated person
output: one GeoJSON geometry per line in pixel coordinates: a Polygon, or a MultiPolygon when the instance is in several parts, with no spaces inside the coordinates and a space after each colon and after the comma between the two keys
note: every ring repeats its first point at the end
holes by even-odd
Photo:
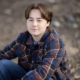
{"type": "Polygon", "coordinates": [[[35,2],[52,10],[52,28],[65,42],[73,80],[80,80],[80,0],[0,0],[0,50],[26,30],[24,12],[35,2]]]}

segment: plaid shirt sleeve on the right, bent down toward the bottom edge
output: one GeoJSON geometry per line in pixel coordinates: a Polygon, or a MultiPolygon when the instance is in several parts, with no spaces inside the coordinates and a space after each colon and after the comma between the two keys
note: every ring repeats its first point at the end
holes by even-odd
{"type": "Polygon", "coordinates": [[[39,68],[25,75],[21,80],[49,80],[55,73],[65,54],[64,43],[62,40],[55,40],[45,49],[45,56],[39,68]]]}

